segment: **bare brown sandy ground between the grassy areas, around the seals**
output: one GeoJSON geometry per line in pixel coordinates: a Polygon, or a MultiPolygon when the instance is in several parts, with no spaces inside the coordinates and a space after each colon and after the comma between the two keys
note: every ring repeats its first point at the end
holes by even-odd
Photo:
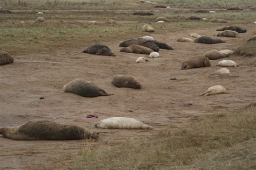
{"type": "MultiPolygon", "coordinates": [[[[62,169],[70,165],[86,145],[114,145],[121,140],[157,134],[172,130],[216,111],[246,107],[256,100],[255,56],[230,56],[240,67],[228,68],[230,75],[211,75],[220,67],[220,60],[211,60],[212,66],[180,70],[181,62],[199,56],[210,49],[235,49],[241,40],[250,36],[252,24],[240,25],[248,32],[241,38],[221,38],[226,43],[205,45],[194,42],[177,42],[188,33],[213,37],[220,24],[208,29],[161,34],[145,33],[173,46],[173,51],[160,50],[160,58],[137,64],[144,54],[120,53],[119,43],[100,42],[113,49],[117,56],[98,56],[80,53],[76,49],[56,49],[35,54],[16,55],[11,65],[0,69],[0,125],[16,126],[32,119],[49,119],[60,123],[85,126],[99,132],[95,143],[89,141],[16,141],[0,136],[0,169],[62,169]],[[140,90],[116,88],[111,84],[117,74],[137,77],[140,90]],[[77,78],[95,82],[112,96],[95,98],[64,93],[62,87],[77,78]],[[176,78],[176,80],[171,80],[176,78]],[[200,94],[214,85],[221,84],[229,94],[202,97],[200,94]],[[39,100],[43,96],[44,100],[39,100]],[[183,104],[193,103],[185,106],[183,104]],[[96,114],[97,119],[84,115],[96,114]],[[104,130],[94,124],[100,119],[124,116],[137,118],[153,126],[153,130],[104,130]]],[[[132,38],[132,37],[131,37],[132,38]]]]}

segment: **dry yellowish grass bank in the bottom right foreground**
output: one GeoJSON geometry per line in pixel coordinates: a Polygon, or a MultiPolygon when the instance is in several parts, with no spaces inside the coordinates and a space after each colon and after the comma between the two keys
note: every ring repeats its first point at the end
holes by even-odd
{"type": "Polygon", "coordinates": [[[255,168],[255,122],[255,105],[218,112],[154,137],[87,146],[70,169],[255,168]]]}

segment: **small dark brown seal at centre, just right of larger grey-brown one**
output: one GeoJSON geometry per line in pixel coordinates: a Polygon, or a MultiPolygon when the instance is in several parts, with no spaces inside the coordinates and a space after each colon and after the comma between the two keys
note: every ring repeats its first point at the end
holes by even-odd
{"type": "Polygon", "coordinates": [[[112,84],[116,87],[127,87],[133,89],[140,89],[142,85],[139,81],[131,75],[116,75],[112,80],[112,84]]]}

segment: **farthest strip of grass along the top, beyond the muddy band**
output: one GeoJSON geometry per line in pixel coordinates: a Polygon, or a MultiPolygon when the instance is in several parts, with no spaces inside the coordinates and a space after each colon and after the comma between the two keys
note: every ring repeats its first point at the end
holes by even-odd
{"type": "MultiPolygon", "coordinates": [[[[231,8],[255,6],[254,0],[155,0],[172,8],[231,8]]],[[[139,3],[137,0],[1,0],[0,6],[8,9],[153,9],[152,4],[139,3]]]]}

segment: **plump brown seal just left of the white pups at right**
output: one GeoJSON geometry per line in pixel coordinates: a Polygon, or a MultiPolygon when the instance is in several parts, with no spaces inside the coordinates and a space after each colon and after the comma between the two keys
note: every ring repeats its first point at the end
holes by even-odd
{"type": "Polygon", "coordinates": [[[205,56],[194,56],[181,64],[181,69],[209,67],[211,62],[205,56]]]}

